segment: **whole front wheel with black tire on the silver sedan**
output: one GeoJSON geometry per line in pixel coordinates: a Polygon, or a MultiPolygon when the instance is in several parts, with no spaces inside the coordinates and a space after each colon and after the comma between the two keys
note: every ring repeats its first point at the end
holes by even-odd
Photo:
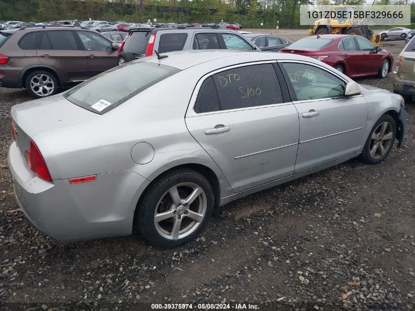
{"type": "Polygon", "coordinates": [[[389,114],[382,115],[370,131],[363,151],[360,154],[360,160],[366,164],[378,164],[382,162],[389,155],[395,137],[395,119],[389,114]]]}

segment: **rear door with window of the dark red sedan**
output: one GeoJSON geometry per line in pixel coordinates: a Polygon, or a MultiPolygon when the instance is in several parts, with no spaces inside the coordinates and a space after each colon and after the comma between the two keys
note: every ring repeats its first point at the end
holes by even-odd
{"type": "Polygon", "coordinates": [[[355,38],[350,36],[342,39],[338,48],[346,64],[345,74],[349,77],[363,75],[365,58],[363,52],[358,50],[355,38]]]}

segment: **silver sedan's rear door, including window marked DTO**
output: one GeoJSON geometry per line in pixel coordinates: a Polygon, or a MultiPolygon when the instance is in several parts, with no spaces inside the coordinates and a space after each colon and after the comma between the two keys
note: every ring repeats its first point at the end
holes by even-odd
{"type": "Polygon", "coordinates": [[[236,193],[294,172],[299,120],[281,80],[272,62],[241,64],[194,90],[186,125],[236,193]]]}

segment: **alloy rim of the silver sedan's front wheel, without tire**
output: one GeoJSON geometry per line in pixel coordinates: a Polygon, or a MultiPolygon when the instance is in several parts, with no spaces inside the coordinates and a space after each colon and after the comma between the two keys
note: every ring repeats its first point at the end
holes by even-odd
{"type": "Polygon", "coordinates": [[[370,155],[373,159],[380,159],[389,150],[393,143],[393,128],[389,122],[382,122],[378,125],[370,139],[370,155]]]}

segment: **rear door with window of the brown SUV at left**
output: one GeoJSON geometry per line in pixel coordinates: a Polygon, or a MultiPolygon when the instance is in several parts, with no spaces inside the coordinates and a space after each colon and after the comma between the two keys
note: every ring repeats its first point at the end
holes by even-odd
{"type": "Polygon", "coordinates": [[[88,62],[72,30],[43,31],[36,54],[42,64],[57,71],[62,82],[89,78],[88,62]]]}

